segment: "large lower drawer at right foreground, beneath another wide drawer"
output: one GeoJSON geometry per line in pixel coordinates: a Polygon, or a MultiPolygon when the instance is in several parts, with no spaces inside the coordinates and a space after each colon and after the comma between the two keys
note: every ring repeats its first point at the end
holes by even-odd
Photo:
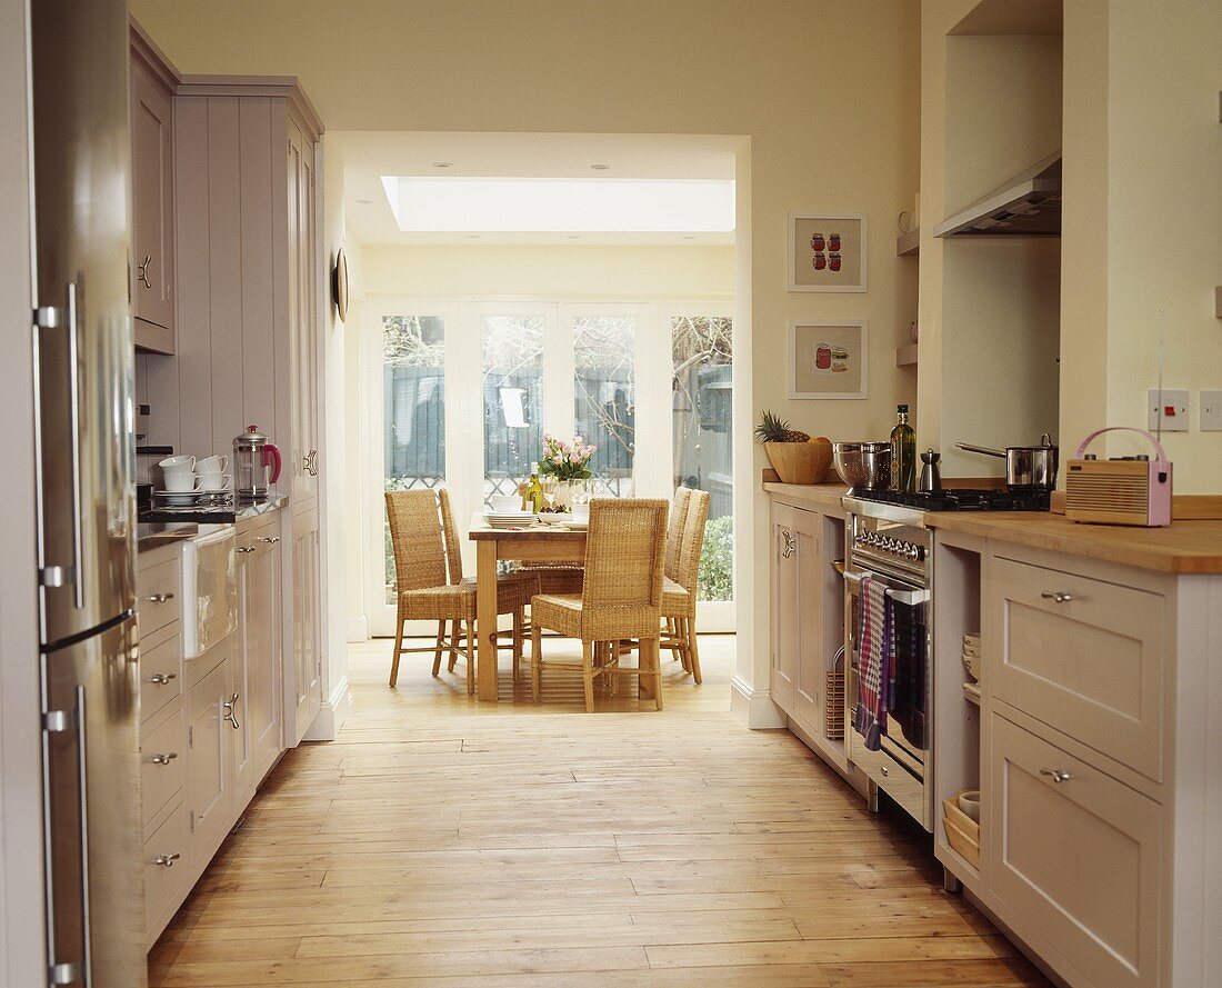
{"type": "Polygon", "coordinates": [[[1162,808],[1000,714],[990,730],[981,831],[1002,918],[1073,984],[1158,984],[1162,808]]]}

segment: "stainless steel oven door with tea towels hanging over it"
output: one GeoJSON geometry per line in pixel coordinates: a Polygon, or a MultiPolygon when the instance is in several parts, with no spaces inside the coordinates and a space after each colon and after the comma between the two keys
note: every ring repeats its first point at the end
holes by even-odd
{"type": "Polygon", "coordinates": [[[932,825],[932,811],[925,785],[930,769],[929,743],[932,736],[929,669],[929,591],[892,575],[849,565],[844,570],[844,717],[848,759],[866,778],[887,792],[925,829],[932,825]],[[853,713],[860,698],[860,642],[858,616],[862,578],[870,576],[887,588],[887,606],[896,637],[897,682],[888,697],[887,721],[880,750],[865,747],[865,739],[853,728],[853,713]]]}

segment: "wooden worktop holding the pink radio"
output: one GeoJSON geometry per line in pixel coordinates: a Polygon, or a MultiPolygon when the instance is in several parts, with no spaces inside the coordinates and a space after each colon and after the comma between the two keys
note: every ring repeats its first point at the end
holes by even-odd
{"type": "Polygon", "coordinates": [[[1222,521],[1177,521],[1166,528],[1136,528],[1083,525],[1042,511],[930,511],[925,523],[947,532],[1106,559],[1143,570],[1222,573],[1222,521]]]}

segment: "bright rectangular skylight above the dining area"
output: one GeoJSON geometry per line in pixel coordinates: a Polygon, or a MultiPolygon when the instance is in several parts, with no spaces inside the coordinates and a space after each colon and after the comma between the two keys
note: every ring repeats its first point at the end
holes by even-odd
{"type": "Polygon", "coordinates": [[[382,176],[398,229],[489,234],[725,234],[732,181],[382,176]]]}

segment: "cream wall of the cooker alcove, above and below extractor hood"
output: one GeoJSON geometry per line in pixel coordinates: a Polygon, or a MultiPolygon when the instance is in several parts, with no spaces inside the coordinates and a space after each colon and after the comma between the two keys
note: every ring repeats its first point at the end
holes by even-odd
{"type": "Polygon", "coordinates": [[[976,0],[921,5],[916,441],[942,476],[998,477],[954,449],[1059,438],[1058,240],[941,240],[934,227],[1061,146],[1061,39],[948,35],[976,0]]]}

